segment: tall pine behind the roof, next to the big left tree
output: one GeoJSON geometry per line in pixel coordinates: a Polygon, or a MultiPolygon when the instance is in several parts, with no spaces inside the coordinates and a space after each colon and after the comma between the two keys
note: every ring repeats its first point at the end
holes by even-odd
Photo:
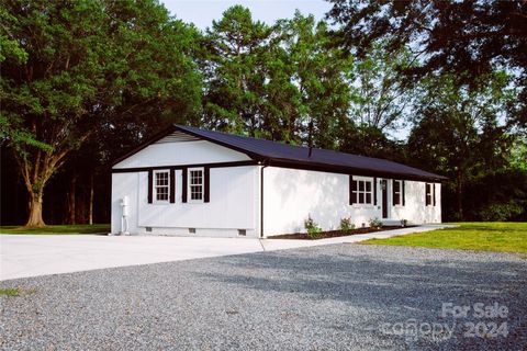
{"type": "Polygon", "coordinates": [[[265,84],[261,55],[271,29],[242,5],[227,9],[208,30],[203,63],[206,79],[204,122],[227,132],[255,136],[260,129],[265,84]]]}

